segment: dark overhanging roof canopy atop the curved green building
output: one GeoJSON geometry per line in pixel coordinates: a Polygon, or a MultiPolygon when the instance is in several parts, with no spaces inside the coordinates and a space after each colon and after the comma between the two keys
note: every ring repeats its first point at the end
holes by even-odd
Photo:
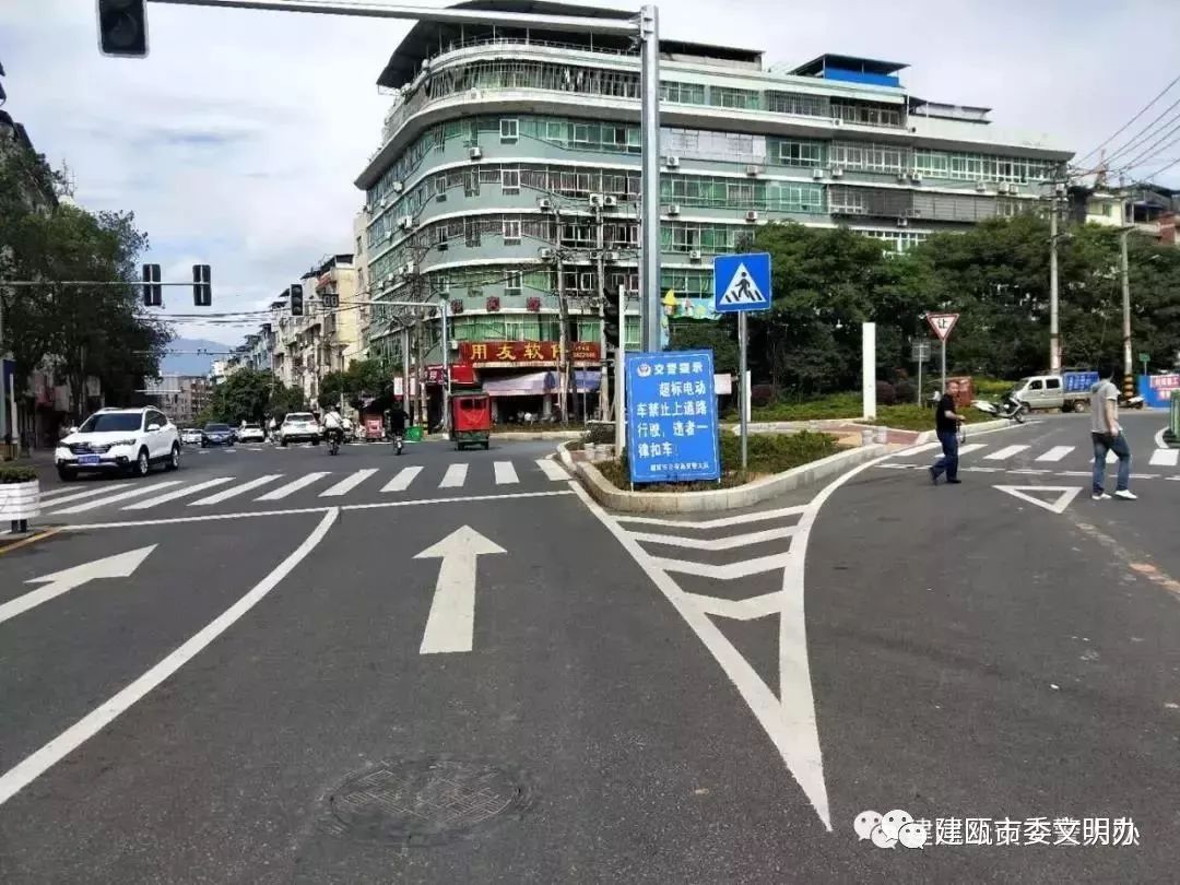
{"type": "MultiPolygon", "coordinates": [[[[630,19],[634,11],[611,9],[601,6],[578,6],[575,4],[552,2],[551,0],[460,0],[451,4],[454,9],[489,9],[496,12],[522,12],[543,15],[578,15],[594,19],[630,19]]],[[[378,77],[376,85],[386,88],[399,88],[412,81],[421,70],[422,63],[437,55],[450,46],[486,42],[493,39],[523,40],[532,42],[585,45],[590,48],[615,50],[622,53],[635,53],[632,41],[625,37],[607,34],[585,34],[571,31],[551,31],[543,27],[510,28],[499,25],[454,25],[438,21],[419,21],[406,34],[405,39],[389,57],[388,64],[378,77]]],[[[689,55],[725,61],[760,65],[762,53],[758,50],[741,50],[732,46],[713,46],[709,44],[689,42],[684,40],[660,40],[660,51],[668,55],[689,55]]]]}

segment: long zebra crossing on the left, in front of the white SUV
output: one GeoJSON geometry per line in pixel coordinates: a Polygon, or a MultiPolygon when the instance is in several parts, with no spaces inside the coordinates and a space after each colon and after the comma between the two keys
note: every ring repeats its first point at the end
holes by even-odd
{"type": "Polygon", "coordinates": [[[101,507],[145,511],[175,502],[189,507],[210,507],[234,499],[270,503],[286,500],[303,491],[330,502],[349,494],[371,494],[374,491],[378,494],[394,494],[419,489],[461,490],[468,483],[491,484],[502,489],[536,481],[548,485],[571,478],[560,464],[550,458],[538,458],[519,471],[512,461],[494,461],[490,476],[483,465],[476,465],[474,471],[470,470],[471,466],[448,464],[441,476],[437,473],[437,468],[412,465],[394,471],[366,467],[339,472],[314,471],[301,476],[268,473],[242,480],[221,476],[195,483],[176,478],[153,483],[101,483],[86,490],[68,485],[44,491],[41,512],[57,517],[90,513],[101,507]]]}

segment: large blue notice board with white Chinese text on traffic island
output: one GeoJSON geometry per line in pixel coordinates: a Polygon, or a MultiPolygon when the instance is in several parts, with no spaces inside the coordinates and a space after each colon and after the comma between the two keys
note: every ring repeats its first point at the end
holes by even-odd
{"type": "Polygon", "coordinates": [[[627,354],[627,457],[632,483],[717,479],[712,350],[627,354]]]}

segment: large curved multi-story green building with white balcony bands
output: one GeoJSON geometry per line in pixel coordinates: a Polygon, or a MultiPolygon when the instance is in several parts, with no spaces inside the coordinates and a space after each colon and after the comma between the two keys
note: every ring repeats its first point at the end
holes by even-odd
{"type": "MultiPolygon", "coordinates": [[[[459,6],[628,14],[532,0],[459,6]]],[[[1036,204],[1071,156],[1001,135],[988,109],[911,94],[902,64],[821,55],[778,70],[756,51],[675,40],[661,41],[661,55],[660,291],[690,302],[712,299],[712,257],[741,249],[758,225],[847,225],[902,250],[1036,204]]],[[[590,367],[603,293],[638,295],[634,46],[420,22],[378,84],[396,98],[356,179],[373,323],[388,326],[382,300],[446,301],[452,362],[493,395],[548,408],[559,312],[569,309],[576,361],[590,367]],[[526,353],[522,342],[539,346],[526,353]]],[[[382,341],[392,356],[399,339],[382,341]]],[[[426,360],[440,360],[437,347],[426,360]]]]}

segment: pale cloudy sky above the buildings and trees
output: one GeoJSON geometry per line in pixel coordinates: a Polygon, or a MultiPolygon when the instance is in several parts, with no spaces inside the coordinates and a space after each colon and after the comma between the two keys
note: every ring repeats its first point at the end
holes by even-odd
{"type": "MultiPolygon", "coordinates": [[[[658,9],[663,37],[762,50],[769,65],[824,52],[909,64],[912,93],[991,107],[996,127],[1079,158],[1180,73],[1172,0],[662,0],[658,9]]],[[[323,257],[353,250],[363,199],[353,181],[392,105],[375,81],[412,22],[158,4],[148,18],[149,57],[112,59],[98,51],[94,0],[0,0],[4,109],[68,168],[80,204],[135,211],[151,241],[144,260],[165,280],[208,263],[215,309],[266,307],[323,257]]],[[[1112,145],[1176,99],[1180,84],[1112,145]]],[[[1163,146],[1142,173],[1180,158],[1180,135],[1163,146]]],[[[1180,188],[1180,165],[1159,181],[1180,188]]],[[[166,312],[195,312],[190,290],[164,293],[166,312]]],[[[256,324],[185,323],[177,334],[235,345],[256,324]]]]}

